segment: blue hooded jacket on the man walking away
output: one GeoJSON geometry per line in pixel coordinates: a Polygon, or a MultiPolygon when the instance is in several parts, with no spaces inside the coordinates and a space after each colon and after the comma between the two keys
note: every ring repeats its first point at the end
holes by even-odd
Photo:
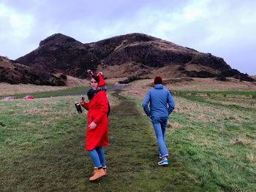
{"type": "Polygon", "coordinates": [[[146,94],[142,107],[146,115],[159,118],[170,115],[174,110],[175,104],[170,91],[164,88],[162,84],[157,84],[146,94]],[[150,110],[148,109],[148,102],[150,102],[150,110]]]}

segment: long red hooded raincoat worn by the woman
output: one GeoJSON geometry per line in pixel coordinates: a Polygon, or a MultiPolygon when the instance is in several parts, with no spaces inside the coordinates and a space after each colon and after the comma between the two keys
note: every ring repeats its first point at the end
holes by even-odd
{"type": "MultiPolygon", "coordinates": [[[[105,86],[105,80],[99,75],[99,86],[105,86]]],[[[108,99],[105,91],[99,91],[89,103],[83,102],[83,107],[88,110],[86,150],[93,150],[95,147],[108,146],[108,99]],[[97,124],[93,130],[89,130],[91,122],[97,124]]]]}

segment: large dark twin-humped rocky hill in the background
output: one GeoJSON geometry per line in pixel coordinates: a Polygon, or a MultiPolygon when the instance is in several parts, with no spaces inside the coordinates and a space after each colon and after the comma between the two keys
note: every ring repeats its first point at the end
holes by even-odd
{"type": "Polygon", "coordinates": [[[80,78],[86,77],[87,69],[101,70],[106,77],[154,77],[161,72],[163,77],[222,77],[227,72],[246,77],[234,72],[223,58],[146,34],[127,34],[86,44],[53,34],[16,61],[80,78]]]}

